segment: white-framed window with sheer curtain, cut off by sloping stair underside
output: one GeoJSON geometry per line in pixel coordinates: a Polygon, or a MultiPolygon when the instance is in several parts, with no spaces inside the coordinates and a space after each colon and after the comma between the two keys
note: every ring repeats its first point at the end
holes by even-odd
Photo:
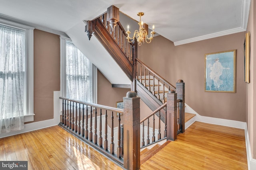
{"type": "Polygon", "coordinates": [[[61,63],[61,95],[96,103],[97,68],[70,40],[62,38],[61,63]]]}

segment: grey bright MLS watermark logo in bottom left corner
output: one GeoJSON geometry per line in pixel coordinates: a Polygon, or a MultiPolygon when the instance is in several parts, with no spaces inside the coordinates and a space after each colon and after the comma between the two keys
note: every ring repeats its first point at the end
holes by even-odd
{"type": "Polygon", "coordinates": [[[0,170],[28,170],[28,161],[0,161],[0,170]]]}

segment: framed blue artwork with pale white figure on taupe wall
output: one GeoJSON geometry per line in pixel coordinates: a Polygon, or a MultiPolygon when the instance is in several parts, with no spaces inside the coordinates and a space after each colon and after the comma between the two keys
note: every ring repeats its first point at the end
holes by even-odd
{"type": "Polygon", "coordinates": [[[204,91],[236,92],[236,50],[204,55],[204,91]]]}

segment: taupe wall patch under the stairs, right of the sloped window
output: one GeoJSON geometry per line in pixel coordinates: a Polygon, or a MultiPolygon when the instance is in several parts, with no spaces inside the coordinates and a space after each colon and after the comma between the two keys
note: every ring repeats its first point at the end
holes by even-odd
{"type": "Polygon", "coordinates": [[[112,88],[111,83],[99,70],[97,72],[97,76],[98,104],[116,107],[116,102],[123,101],[123,97],[125,97],[126,93],[130,91],[130,88],[112,88]]]}

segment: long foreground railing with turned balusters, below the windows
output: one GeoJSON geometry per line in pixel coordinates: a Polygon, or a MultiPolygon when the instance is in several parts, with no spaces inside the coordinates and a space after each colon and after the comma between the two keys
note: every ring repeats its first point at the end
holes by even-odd
{"type": "Polygon", "coordinates": [[[123,165],[120,115],[123,109],[62,99],[60,125],[106,156],[123,165]]]}

